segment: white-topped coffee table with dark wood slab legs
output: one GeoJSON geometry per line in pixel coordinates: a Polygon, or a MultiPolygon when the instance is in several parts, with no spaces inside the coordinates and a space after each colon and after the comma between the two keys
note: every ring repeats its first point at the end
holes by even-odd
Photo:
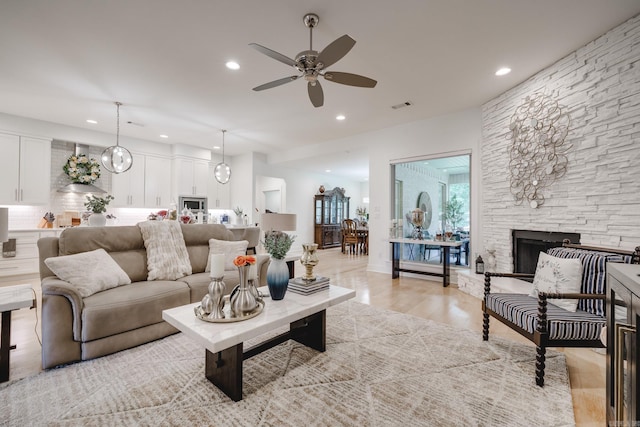
{"type": "Polygon", "coordinates": [[[254,318],[232,323],[210,323],[198,319],[194,307],[183,305],[162,312],[162,318],[206,349],[205,376],[234,401],[242,400],[242,361],[293,339],[318,351],[325,351],[326,309],[354,298],[356,292],[339,286],[311,295],[287,292],[273,301],[266,287],[259,289],[265,306],[254,318]],[[243,343],[281,326],[289,330],[244,350],[243,343]]]}

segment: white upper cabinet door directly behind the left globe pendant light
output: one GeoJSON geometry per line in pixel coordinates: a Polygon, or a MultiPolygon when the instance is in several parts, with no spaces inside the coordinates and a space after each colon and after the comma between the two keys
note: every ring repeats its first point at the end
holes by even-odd
{"type": "Polygon", "coordinates": [[[114,207],[143,208],[145,183],[145,156],[131,154],[133,164],[124,173],[111,175],[111,202],[114,207]]]}

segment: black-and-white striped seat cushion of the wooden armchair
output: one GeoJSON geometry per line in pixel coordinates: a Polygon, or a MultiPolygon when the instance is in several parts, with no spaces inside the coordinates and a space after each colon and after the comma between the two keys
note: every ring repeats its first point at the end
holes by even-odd
{"type": "MultiPolygon", "coordinates": [[[[533,334],[538,326],[538,298],[523,294],[489,294],[487,308],[533,334]]],[[[583,310],[547,305],[547,329],[554,340],[597,340],[606,319],[583,310]]]]}

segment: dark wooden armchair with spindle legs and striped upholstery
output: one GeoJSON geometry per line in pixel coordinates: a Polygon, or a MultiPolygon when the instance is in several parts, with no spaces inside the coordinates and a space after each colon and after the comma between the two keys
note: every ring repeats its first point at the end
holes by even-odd
{"type": "MultiPolygon", "coordinates": [[[[533,274],[485,273],[482,301],[482,339],[489,339],[489,318],[494,317],[536,345],[536,384],[544,386],[547,347],[604,347],[600,339],[606,324],[606,267],[609,262],[638,263],[640,247],[635,252],[571,245],[551,248],[548,255],[579,259],[582,277],[579,292],[538,292],[529,294],[491,293],[492,277],[534,278],[533,274]],[[558,299],[577,300],[575,311],[556,304],[558,299]]],[[[540,263],[538,264],[540,269],[540,263]]],[[[538,270],[536,270],[538,272],[538,270]]],[[[533,285],[532,285],[533,287],[533,285]]]]}

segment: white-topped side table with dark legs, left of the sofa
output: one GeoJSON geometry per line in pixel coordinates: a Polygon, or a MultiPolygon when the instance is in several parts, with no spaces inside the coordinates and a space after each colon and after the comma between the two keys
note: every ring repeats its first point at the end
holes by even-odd
{"type": "Polygon", "coordinates": [[[11,312],[21,308],[31,308],[36,304],[31,285],[0,287],[0,312],[2,312],[2,332],[0,333],[0,383],[9,381],[9,350],[11,345],[11,312]]]}

